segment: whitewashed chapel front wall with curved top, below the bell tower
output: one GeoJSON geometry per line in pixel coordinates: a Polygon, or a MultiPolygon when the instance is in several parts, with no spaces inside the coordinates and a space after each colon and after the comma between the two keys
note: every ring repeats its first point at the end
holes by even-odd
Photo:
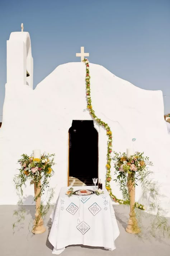
{"type": "MultiPolygon", "coordinates": [[[[164,121],[162,92],[142,90],[96,64],[90,64],[90,75],[92,105],[96,115],[107,122],[113,132],[113,149],[126,152],[132,138],[136,138],[136,150],[144,151],[154,162],[154,178],[165,195],[161,198],[162,207],[170,216],[170,136],[164,121]]],[[[51,180],[56,200],[60,188],[67,186],[68,131],[72,120],[91,120],[88,110],[84,112],[84,109],[84,63],[58,66],[35,90],[11,80],[6,84],[0,129],[0,204],[16,204],[13,177],[19,168],[17,160],[35,148],[56,154],[55,176],[51,180]]],[[[103,127],[95,123],[95,128],[99,133],[99,177],[104,183],[107,136],[103,127]]],[[[113,181],[112,189],[121,197],[113,181]]],[[[138,188],[136,200],[140,201],[140,197],[138,188]]],[[[24,203],[32,204],[32,200],[33,186],[28,186],[24,189],[24,203]]]]}

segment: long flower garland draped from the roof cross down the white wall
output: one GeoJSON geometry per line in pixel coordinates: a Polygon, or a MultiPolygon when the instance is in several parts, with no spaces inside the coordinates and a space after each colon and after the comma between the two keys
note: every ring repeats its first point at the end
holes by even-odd
{"type": "Polygon", "coordinates": [[[116,196],[112,193],[112,188],[110,187],[110,181],[112,180],[111,174],[110,174],[110,168],[111,168],[111,153],[112,153],[112,131],[110,130],[110,127],[107,123],[103,122],[101,119],[99,119],[93,110],[93,107],[91,105],[91,96],[90,96],[90,74],[89,74],[89,60],[84,59],[83,62],[86,65],[86,97],[87,97],[87,108],[89,109],[89,112],[91,116],[98,122],[98,124],[102,125],[105,130],[106,134],[108,136],[108,148],[107,148],[107,173],[106,173],[106,184],[105,188],[108,190],[110,197],[113,199],[113,201],[118,202],[119,204],[128,204],[129,201],[124,201],[121,199],[118,199],[116,196]]]}

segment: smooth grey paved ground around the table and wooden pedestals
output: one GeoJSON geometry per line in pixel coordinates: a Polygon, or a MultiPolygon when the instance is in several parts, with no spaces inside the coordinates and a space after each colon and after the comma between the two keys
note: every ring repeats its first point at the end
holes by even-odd
{"type": "MultiPolygon", "coordinates": [[[[34,206],[25,206],[25,224],[13,234],[14,222],[13,210],[16,206],[0,206],[0,255],[1,256],[52,256],[52,245],[48,241],[51,229],[51,219],[47,216],[47,230],[43,234],[33,235],[28,230],[31,216],[34,216],[34,206]]],[[[118,221],[120,235],[115,241],[116,249],[107,251],[103,248],[88,246],[68,246],[61,256],[170,256],[170,239],[156,236],[150,237],[149,232],[143,234],[143,238],[125,231],[128,212],[127,206],[114,205],[115,215],[118,221]]],[[[145,225],[150,223],[148,214],[142,218],[145,225]]],[[[170,223],[170,220],[169,220],[170,223]]]]}

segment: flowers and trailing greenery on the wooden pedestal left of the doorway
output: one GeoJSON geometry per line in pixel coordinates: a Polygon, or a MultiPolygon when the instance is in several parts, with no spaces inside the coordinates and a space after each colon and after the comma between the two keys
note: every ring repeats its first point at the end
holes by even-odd
{"type": "MultiPolygon", "coordinates": [[[[42,217],[47,214],[54,193],[52,188],[49,189],[49,181],[54,174],[54,156],[55,154],[43,153],[40,158],[34,158],[33,154],[30,156],[23,154],[18,160],[18,164],[20,164],[20,168],[18,169],[19,174],[16,174],[14,177],[15,188],[19,197],[18,206],[23,205],[23,186],[26,187],[27,181],[29,181],[30,185],[34,184],[37,188],[40,188],[40,192],[34,198],[34,201],[36,201],[38,197],[41,197],[45,189],[48,188],[50,195],[46,206],[41,202],[41,206],[39,207],[39,216],[41,215],[42,217]]],[[[18,220],[13,224],[13,228],[24,219],[24,212],[23,207],[14,211],[14,215],[18,216],[18,220]]]]}

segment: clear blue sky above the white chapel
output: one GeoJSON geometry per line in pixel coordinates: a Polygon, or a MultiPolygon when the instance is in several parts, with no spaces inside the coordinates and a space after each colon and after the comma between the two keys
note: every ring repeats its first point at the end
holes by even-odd
{"type": "Polygon", "coordinates": [[[170,113],[169,0],[0,0],[0,115],[6,83],[6,40],[28,31],[34,88],[58,65],[80,61],[85,46],[92,63],[147,90],[162,90],[170,113]]]}

